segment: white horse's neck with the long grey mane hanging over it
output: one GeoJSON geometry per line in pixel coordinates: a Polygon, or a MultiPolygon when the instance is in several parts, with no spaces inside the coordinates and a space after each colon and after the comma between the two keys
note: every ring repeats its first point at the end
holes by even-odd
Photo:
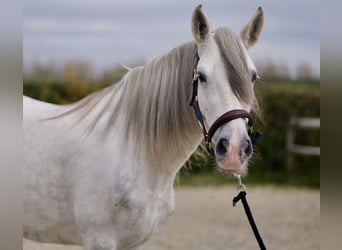
{"type": "Polygon", "coordinates": [[[119,147],[131,144],[132,156],[151,168],[175,174],[201,141],[188,104],[196,64],[196,45],[187,43],[131,70],[105,98],[101,94],[102,107],[93,109],[100,113],[96,131],[105,131],[107,141],[119,140],[119,147]]]}

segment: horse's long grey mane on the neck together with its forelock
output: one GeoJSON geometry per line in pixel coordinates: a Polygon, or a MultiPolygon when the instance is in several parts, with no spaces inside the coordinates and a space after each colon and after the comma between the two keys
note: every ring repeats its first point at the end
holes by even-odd
{"type": "MultiPolygon", "coordinates": [[[[246,58],[237,35],[227,28],[219,28],[214,39],[235,95],[256,107],[246,58]]],[[[114,124],[123,119],[125,136],[127,140],[134,139],[136,152],[145,152],[148,159],[157,158],[157,161],[162,159],[162,152],[181,154],[182,145],[191,140],[194,133],[200,133],[189,107],[197,63],[196,43],[185,43],[145,66],[129,70],[118,83],[71,104],[69,111],[57,117],[75,114],[78,121],[82,121],[93,112],[96,115],[90,120],[88,133],[106,117],[101,123],[104,124],[103,139],[115,134],[114,124]],[[105,113],[109,115],[103,116],[105,113]]]]}

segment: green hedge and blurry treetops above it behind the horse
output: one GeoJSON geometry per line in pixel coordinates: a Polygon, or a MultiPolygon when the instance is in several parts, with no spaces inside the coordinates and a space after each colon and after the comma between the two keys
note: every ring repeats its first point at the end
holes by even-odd
{"type": "MultiPolygon", "coordinates": [[[[127,70],[114,66],[101,74],[94,74],[91,65],[67,62],[58,69],[55,65],[34,65],[25,71],[24,94],[33,98],[65,104],[83,98],[113,82],[127,70]]],[[[257,99],[263,113],[255,129],[262,132],[246,181],[249,184],[299,185],[320,187],[320,157],[295,155],[291,171],[286,171],[286,128],[291,116],[320,117],[319,79],[313,76],[309,65],[298,67],[290,78],[284,65],[272,62],[260,64],[262,80],[255,85],[257,99]],[[293,80],[295,79],[295,80],[293,80]]],[[[319,146],[317,129],[297,130],[296,143],[319,146]]],[[[215,161],[202,148],[182,168],[177,177],[180,185],[226,184],[229,177],[215,170],[215,161]]]]}

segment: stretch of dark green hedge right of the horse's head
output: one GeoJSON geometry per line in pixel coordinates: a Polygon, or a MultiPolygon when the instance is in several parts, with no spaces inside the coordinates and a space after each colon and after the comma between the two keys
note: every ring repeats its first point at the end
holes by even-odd
{"type": "MultiPolygon", "coordinates": [[[[286,129],[289,118],[320,117],[319,84],[291,82],[277,85],[262,84],[256,88],[262,107],[264,123],[259,125],[263,138],[257,146],[260,157],[256,157],[251,173],[259,178],[269,176],[275,182],[319,187],[319,157],[295,155],[291,175],[286,176],[286,129]],[[271,174],[272,173],[272,174],[271,174]]],[[[319,146],[320,133],[317,129],[297,130],[296,143],[319,146]]]]}

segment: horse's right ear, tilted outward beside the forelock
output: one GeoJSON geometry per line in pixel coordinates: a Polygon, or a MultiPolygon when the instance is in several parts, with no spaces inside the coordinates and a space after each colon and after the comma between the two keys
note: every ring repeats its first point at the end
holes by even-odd
{"type": "Polygon", "coordinates": [[[243,43],[246,48],[252,47],[259,39],[262,27],[264,26],[264,12],[261,7],[252,16],[249,22],[240,32],[243,43]]]}

